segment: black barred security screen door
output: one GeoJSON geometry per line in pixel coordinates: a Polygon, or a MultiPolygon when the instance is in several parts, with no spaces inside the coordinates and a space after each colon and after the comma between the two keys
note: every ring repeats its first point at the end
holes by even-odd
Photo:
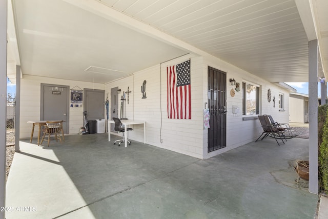
{"type": "Polygon", "coordinates": [[[208,152],[226,147],[226,72],[208,68],[208,152]]]}

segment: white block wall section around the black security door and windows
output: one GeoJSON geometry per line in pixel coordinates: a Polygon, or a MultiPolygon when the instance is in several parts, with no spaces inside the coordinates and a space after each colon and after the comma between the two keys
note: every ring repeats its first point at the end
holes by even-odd
{"type": "MultiPolygon", "coordinates": [[[[240,83],[240,89],[242,88],[242,82],[254,83],[261,86],[261,103],[260,114],[272,115],[279,123],[288,123],[289,121],[289,91],[282,89],[276,84],[265,81],[264,79],[257,77],[247,71],[239,69],[229,63],[223,62],[218,58],[206,57],[204,58],[204,90],[203,99],[207,102],[207,69],[208,66],[216,68],[218,70],[227,72],[227,147],[222,148],[210,153],[207,152],[207,130],[203,129],[203,158],[209,158],[249,142],[255,141],[256,138],[262,133],[262,127],[259,120],[243,120],[242,115],[242,91],[235,92],[235,96],[230,95],[230,90],[235,86],[231,86],[229,78],[234,78],[236,82],[240,83]],[[273,107],[273,101],[268,102],[267,92],[271,89],[272,98],[275,96],[276,102],[273,107]],[[278,107],[278,95],[284,94],[284,111],[279,111],[278,107]],[[232,106],[238,106],[239,112],[232,113],[232,106]]],[[[254,116],[253,116],[254,117],[254,116]]],[[[255,116],[257,118],[257,116],[255,116]]]]}

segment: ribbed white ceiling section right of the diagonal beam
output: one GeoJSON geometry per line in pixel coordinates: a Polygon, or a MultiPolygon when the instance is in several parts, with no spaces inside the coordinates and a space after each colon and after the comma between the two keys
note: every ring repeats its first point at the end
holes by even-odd
{"type": "Polygon", "coordinates": [[[293,80],[308,79],[308,39],[294,0],[126,3],[128,15],[269,81],[287,69],[302,71],[293,80]]]}

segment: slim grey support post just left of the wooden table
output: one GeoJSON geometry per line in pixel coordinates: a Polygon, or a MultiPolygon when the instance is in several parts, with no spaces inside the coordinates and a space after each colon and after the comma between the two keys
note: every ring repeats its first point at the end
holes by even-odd
{"type": "Polygon", "coordinates": [[[16,66],[16,102],[15,102],[15,152],[19,151],[20,121],[20,66],[16,66]]]}

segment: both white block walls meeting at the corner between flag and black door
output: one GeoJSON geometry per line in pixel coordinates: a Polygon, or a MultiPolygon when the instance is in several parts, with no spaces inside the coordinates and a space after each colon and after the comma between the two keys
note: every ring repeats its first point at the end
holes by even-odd
{"type": "MultiPolygon", "coordinates": [[[[243,81],[252,82],[261,86],[261,114],[270,114],[280,123],[289,122],[289,92],[276,84],[267,82],[249,72],[213,57],[199,57],[186,55],[172,61],[156,65],[134,73],[126,78],[119,79],[105,85],[105,92],[117,87],[126,91],[129,87],[130,104],[127,104],[126,115],[129,119],[145,120],[147,122],[147,143],[160,148],[166,148],[179,153],[198,158],[209,158],[241,145],[256,140],[262,132],[258,120],[243,121],[242,92],[236,92],[231,97],[229,78],[235,78],[240,86],[243,81]],[[176,65],[191,58],[191,120],[172,120],[167,118],[167,66],[176,65]],[[208,66],[227,72],[227,147],[207,152],[207,129],[203,127],[203,109],[208,102],[207,74],[208,66]],[[147,98],[142,99],[141,85],[147,81],[147,98]],[[267,91],[271,89],[272,98],[276,103],[267,100],[267,91]],[[278,95],[284,94],[284,111],[278,109],[278,95]],[[133,97],[133,99],[132,99],[133,97]],[[240,108],[239,113],[232,113],[232,105],[240,108]]],[[[256,116],[255,116],[256,117],[256,116]]],[[[142,126],[134,125],[134,131],[129,132],[129,138],[143,141],[142,126]]]]}

